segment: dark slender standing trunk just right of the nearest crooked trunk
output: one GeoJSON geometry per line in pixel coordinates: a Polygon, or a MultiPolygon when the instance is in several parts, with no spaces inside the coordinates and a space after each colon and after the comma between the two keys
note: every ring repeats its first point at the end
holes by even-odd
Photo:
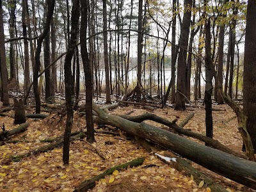
{"type": "Polygon", "coordinates": [[[83,60],[84,76],[86,78],[86,127],[87,127],[87,138],[86,140],[90,143],[95,141],[94,129],[93,129],[93,118],[92,118],[92,70],[88,58],[88,51],[86,45],[86,30],[87,30],[87,18],[88,18],[88,0],[81,1],[81,56],[83,60]]]}

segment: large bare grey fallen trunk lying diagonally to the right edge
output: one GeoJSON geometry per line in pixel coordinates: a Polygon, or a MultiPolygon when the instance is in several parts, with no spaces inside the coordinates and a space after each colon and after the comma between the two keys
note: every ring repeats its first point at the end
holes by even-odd
{"type": "Polygon", "coordinates": [[[93,110],[99,115],[99,118],[107,124],[115,125],[134,136],[152,140],[159,145],[172,150],[176,154],[204,166],[212,172],[219,173],[220,175],[239,182],[244,186],[256,189],[255,162],[232,156],[211,147],[200,145],[194,141],[183,138],[182,136],[173,134],[172,132],[160,129],[153,125],[145,124],[144,122],[138,124],[120,116],[107,114],[94,103],[93,110]]]}

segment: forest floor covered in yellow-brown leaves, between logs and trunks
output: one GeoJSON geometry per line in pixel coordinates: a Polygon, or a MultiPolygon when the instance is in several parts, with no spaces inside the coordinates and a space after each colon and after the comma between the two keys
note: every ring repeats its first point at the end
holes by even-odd
{"type": "MultiPolygon", "coordinates": [[[[226,105],[214,106],[222,109],[212,111],[214,125],[214,139],[220,141],[227,147],[241,152],[242,140],[237,129],[235,114],[226,105]]],[[[204,108],[189,108],[188,111],[175,111],[173,108],[155,109],[152,113],[174,120],[178,118],[177,124],[182,122],[186,116],[195,112],[195,116],[189,120],[184,129],[205,134],[205,111],[204,108]]],[[[139,106],[118,107],[111,111],[112,114],[125,114],[133,111],[131,115],[141,115],[147,110],[139,106]]],[[[31,113],[31,111],[27,111],[31,113]]],[[[9,115],[13,111],[8,112],[9,115]]],[[[44,120],[27,119],[28,131],[13,136],[12,140],[24,140],[20,143],[6,143],[0,146],[0,164],[8,156],[22,154],[36,147],[47,145],[40,140],[62,136],[65,130],[65,117],[61,118],[52,113],[44,120]]],[[[158,127],[163,125],[147,121],[158,127]]],[[[10,116],[0,116],[0,125],[5,125],[10,130],[17,125],[13,124],[10,116]]],[[[74,113],[74,126],[72,132],[82,130],[86,126],[84,117],[74,113]]],[[[103,129],[95,125],[95,129],[103,129]]],[[[204,186],[198,186],[193,177],[186,177],[183,172],[178,172],[170,164],[164,164],[154,153],[148,153],[143,147],[132,140],[126,140],[125,135],[113,136],[109,134],[95,134],[93,143],[104,156],[105,160],[95,153],[86,142],[75,140],[70,143],[70,163],[66,166],[62,163],[62,147],[54,148],[31,157],[24,157],[19,162],[9,165],[0,165],[0,191],[74,191],[83,180],[90,179],[108,168],[118,164],[126,163],[138,157],[146,157],[144,163],[136,168],[128,168],[120,172],[114,172],[97,182],[95,188],[89,191],[208,191],[204,186]],[[153,167],[145,167],[155,164],[153,167]]],[[[163,154],[164,151],[157,153],[163,154]]],[[[193,164],[201,172],[211,177],[228,191],[253,191],[241,184],[217,175],[201,166],[193,164]]]]}

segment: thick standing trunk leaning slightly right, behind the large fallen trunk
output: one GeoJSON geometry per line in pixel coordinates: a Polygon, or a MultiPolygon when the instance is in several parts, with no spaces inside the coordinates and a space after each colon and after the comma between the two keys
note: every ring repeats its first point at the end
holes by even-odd
{"type": "Polygon", "coordinates": [[[185,107],[185,97],[186,95],[186,59],[187,59],[187,48],[188,48],[188,38],[189,38],[189,27],[191,20],[191,6],[192,0],[185,0],[184,7],[189,9],[184,13],[182,25],[180,27],[180,40],[179,45],[179,58],[178,58],[178,68],[177,68],[177,92],[176,92],[176,104],[175,110],[184,111],[185,107]]]}

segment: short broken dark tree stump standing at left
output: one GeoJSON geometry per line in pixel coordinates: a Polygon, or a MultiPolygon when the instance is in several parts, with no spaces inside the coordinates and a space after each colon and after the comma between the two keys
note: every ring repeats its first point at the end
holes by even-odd
{"type": "Polygon", "coordinates": [[[14,102],[14,124],[24,124],[26,122],[25,116],[25,106],[22,99],[19,101],[17,99],[13,99],[14,102]]]}

